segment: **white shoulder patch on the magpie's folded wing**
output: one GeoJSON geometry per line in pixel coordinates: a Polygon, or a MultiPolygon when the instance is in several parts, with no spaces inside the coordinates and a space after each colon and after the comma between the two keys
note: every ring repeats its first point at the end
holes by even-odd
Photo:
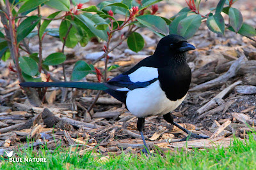
{"type": "Polygon", "coordinates": [[[132,82],[145,82],[158,78],[157,68],[154,67],[140,67],[133,73],[128,75],[132,82]]]}

